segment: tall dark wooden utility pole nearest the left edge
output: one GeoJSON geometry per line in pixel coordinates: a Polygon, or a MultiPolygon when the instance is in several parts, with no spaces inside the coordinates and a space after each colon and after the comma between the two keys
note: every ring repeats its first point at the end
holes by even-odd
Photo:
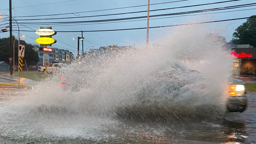
{"type": "MultiPolygon", "coordinates": [[[[11,16],[11,0],[9,0],[9,15],[10,15],[10,57],[13,57],[12,55],[12,16],[11,16]]],[[[12,75],[12,63],[10,63],[10,75],[12,75]]]]}

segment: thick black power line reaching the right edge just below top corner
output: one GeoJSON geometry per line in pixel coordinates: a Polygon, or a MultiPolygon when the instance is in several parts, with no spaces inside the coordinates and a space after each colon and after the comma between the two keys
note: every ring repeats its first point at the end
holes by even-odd
{"type": "MultiPolygon", "coordinates": [[[[220,7],[220,8],[213,8],[213,9],[204,9],[204,10],[194,10],[194,11],[185,11],[185,12],[177,12],[177,13],[167,13],[167,14],[158,14],[158,15],[151,15],[149,17],[157,17],[157,16],[167,16],[167,15],[179,15],[179,14],[189,14],[189,13],[198,13],[198,12],[207,12],[207,11],[216,11],[216,10],[228,10],[228,9],[236,9],[236,8],[243,8],[243,7],[251,7],[256,6],[252,4],[244,4],[244,5],[236,5],[236,6],[228,6],[228,7],[220,7]],[[249,5],[249,6],[248,6],[249,5]]],[[[91,23],[91,22],[107,22],[107,21],[119,21],[119,20],[129,20],[129,19],[139,19],[139,18],[146,18],[147,16],[139,16],[139,17],[128,17],[128,18],[118,18],[118,19],[104,19],[104,20],[91,20],[91,21],[71,21],[71,22],[43,22],[45,24],[74,24],[74,23],[91,23]]],[[[22,24],[37,24],[37,22],[21,22],[22,24]]],[[[42,23],[42,22],[41,22],[42,23]]],[[[43,25],[41,24],[40,25],[43,25]]]]}

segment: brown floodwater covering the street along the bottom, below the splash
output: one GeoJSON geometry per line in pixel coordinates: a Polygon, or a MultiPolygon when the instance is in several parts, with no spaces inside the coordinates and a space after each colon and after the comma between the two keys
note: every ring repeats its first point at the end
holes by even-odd
{"type": "MultiPolygon", "coordinates": [[[[1,101],[14,98],[15,93],[13,90],[1,90],[1,101]]],[[[0,143],[254,144],[256,93],[248,93],[247,96],[249,105],[244,113],[228,113],[226,118],[211,122],[202,119],[191,123],[150,123],[75,114],[72,117],[32,114],[29,119],[15,114],[16,118],[7,119],[7,114],[1,112],[0,143]],[[48,119],[42,119],[45,116],[48,119]]]]}

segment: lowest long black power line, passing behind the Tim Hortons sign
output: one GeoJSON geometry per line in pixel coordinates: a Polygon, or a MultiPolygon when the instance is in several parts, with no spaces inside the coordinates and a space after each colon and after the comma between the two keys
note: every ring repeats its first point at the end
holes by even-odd
{"type": "MultiPolygon", "coordinates": [[[[178,25],[168,25],[168,26],[157,26],[157,27],[149,27],[149,28],[163,28],[163,27],[174,27],[174,26],[186,26],[186,25],[195,25],[195,24],[205,24],[205,23],[215,23],[215,22],[240,20],[240,19],[247,19],[247,18],[256,18],[256,16],[243,17],[243,18],[234,18],[234,19],[225,19],[225,20],[218,20],[218,21],[199,22],[199,23],[178,24],[178,25]]],[[[130,28],[130,29],[114,29],[114,30],[94,30],[94,31],[83,31],[83,32],[124,31],[124,30],[139,30],[139,29],[146,29],[146,28],[130,28]]],[[[14,31],[16,31],[16,30],[14,30],[14,31]]],[[[20,30],[20,31],[26,31],[26,30],[20,30]]],[[[30,32],[34,32],[34,31],[30,31],[30,32]]],[[[56,31],[56,32],[81,32],[81,31],[56,31]]]]}

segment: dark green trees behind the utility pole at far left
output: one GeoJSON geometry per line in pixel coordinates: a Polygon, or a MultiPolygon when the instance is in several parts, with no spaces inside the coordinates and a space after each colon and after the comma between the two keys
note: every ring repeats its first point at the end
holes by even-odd
{"type": "MultiPolygon", "coordinates": [[[[14,36],[12,36],[12,42],[14,40],[14,36]]],[[[36,65],[39,61],[38,54],[33,50],[33,46],[31,44],[27,44],[24,40],[20,40],[21,45],[25,45],[25,55],[27,65],[36,65]]],[[[0,38],[0,61],[6,61],[9,63],[8,57],[10,52],[10,39],[8,38],[0,38]]],[[[12,43],[13,46],[13,43],[12,43]]],[[[18,40],[15,40],[14,44],[14,58],[15,65],[18,63],[18,40]]],[[[25,64],[25,63],[23,63],[25,64]]]]}

